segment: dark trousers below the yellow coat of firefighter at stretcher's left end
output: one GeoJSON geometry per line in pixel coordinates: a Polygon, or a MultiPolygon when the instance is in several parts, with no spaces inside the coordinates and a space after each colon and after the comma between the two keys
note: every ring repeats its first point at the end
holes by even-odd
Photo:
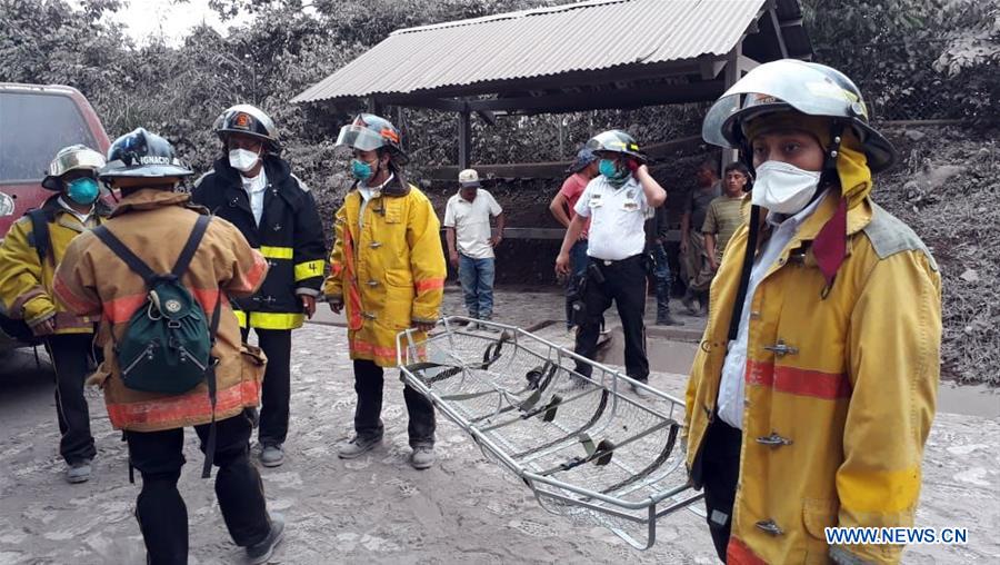
{"type": "MultiPolygon", "coordinates": [[[[382,426],[382,386],[384,370],[374,361],[354,360],[354,391],[358,393],[358,406],[354,408],[354,432],[361,437],[381,437],[382,426]]],[[[410,423],[407,432],[410,435],[410,447],[434,445],[434,406],[423,395],[409,385],[403,388],[403,400],[410,423]]]]}

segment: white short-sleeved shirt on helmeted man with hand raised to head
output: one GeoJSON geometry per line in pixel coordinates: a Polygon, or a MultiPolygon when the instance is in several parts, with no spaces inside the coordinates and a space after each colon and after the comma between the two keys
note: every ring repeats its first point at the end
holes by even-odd
{"type": "Polygon", "coordinates": [[[590,218],[587,255],[594,259],[618,261],[646,249],[646,220],[653,211],[636,177],[614,188],[603,175],[594,177],[573,208],[590,218]]]}

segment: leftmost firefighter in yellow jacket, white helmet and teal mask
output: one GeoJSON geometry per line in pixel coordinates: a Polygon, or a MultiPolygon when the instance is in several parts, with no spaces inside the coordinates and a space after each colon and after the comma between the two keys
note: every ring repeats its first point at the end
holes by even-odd
{"type": "Polygon", "coordinates": [[[52,277],[70,241],[110,212],[99,199],[97,170],[103,165],[101,153],[81,145],[59,150],[42,180],[42,187],[57,194],[14,224],[0,247],[3,309],[44,341],[56,369],[59,453],[70,483],[90,478],[97,454],[83,397],[97,319],[76,316],[59,304],[52,294],[52,277]]]}

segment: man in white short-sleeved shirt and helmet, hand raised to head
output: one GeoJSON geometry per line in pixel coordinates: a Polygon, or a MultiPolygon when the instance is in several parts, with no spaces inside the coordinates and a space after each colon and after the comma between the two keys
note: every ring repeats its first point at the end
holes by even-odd
{"type": "MultiPolygon", "coordinates": [[[[556,271],[569,274],[570,248],[589,219],[586,316],[577,331],[576,353],[588,359],[594,357],[601,318],[614,300],[624,333],[626,373],[646,383],[646,220],[653,208],[667,201],[667,192],[650,176],[639,145],[624,131],[604,131],[588,141],[587,147],[600,158],[601,175],[587,185],[577,201],[577,216],[556,260],[556,271]]],[[[591,367],[578,365],[577,373],[589,378],[591,367]]],[[[632,388],[641,394],[641,388],[632,388]]]]}

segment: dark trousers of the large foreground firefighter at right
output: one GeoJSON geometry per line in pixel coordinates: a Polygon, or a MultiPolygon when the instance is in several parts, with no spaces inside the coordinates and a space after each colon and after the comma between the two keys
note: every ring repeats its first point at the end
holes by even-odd
{"type": "Polygon", "coordinates": [[[732,505],[740,478],[740,443],[742,433],[717,416],[709,425],[702,448],[701,476],[704,483],[704,508],[709,532],[722,563],[732,528],[732,505]]]}

